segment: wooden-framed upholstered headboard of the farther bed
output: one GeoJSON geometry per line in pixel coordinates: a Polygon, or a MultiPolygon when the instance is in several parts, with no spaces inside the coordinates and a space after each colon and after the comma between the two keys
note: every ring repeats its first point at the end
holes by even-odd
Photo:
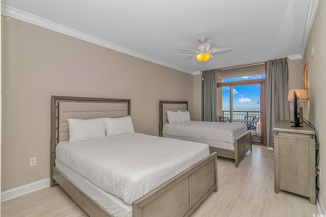
{"type": "Polygon", "coordinates": [[[167,111],[187,111],[186,101],[159,101],[159,129],[158,134],[162,136],[163,126],[168,122],[167,111]]]}

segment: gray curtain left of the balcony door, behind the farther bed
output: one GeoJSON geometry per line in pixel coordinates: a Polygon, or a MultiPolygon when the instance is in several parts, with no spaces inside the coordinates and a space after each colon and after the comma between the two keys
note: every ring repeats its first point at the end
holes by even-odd
{"type": "Polygon", "coordinates": [[[202,72],[202,120],[218,121],[216,114],[216,71],[202,72]]]}

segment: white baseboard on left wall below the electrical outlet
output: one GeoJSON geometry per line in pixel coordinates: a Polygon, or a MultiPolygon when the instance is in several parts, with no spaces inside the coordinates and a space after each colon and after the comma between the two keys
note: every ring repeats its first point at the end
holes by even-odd
{"type": "Polygon", "coordinates": [[[15,197],[19,197],[21,195],[25,195],[40,189],[44,189],[50,186],[50,178],[44,178],[42,180],[34,181],[29,184],[25,184],[19,186],[14,189],[9,189],[7,191],[1,192],[1,202],[6,200],[13,199],[15,197]]]}

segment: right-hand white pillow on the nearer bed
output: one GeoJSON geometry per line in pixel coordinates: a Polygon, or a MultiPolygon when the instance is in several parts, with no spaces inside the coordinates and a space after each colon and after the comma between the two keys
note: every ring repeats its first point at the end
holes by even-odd
{"type": "Polygon", "coordinates": [[[134,133],[130,115],[118,118],[104,118],[106,136],[118,136],[127,133],[134,133]]]}

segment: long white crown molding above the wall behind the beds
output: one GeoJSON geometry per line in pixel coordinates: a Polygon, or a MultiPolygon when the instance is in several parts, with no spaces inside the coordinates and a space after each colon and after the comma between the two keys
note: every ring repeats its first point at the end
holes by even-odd
{"type": "Polygon", "coordinates": [[[121,47],[119,45],[104,41],[102,39],[99,39],[99,38],[96,38],[96,37],[93,37],[93,36],[90,36],[90,35],[87,35],[85,33],[79,32],[79,31],[74,30],[72,28],[69,28],[69,27],[63,26],[61,24],[58,24],[58,23],[51,22],[49,20],[43,19],[41,17],[34,16],[32,14],[17,10],[15,8],[12,8],[12,7],[9,7],[9,6],[6,6],[6,5],[1,5],[1,7],[2,7],[1,8],[2,14],[5,14],[8,17],[13,17],[13,18],[25,21],[25,22],[32,23],[34,25],[38,25],[38,26],[53,30],[53,31],[58,32],[58,33],[62,33],[62,34],[65,34],[65,35],[68,35],[68,36],[71,36],[71,37],[74,37],[74,38],[77,38],[77,39],[80,39],[80,40],[84,40],[84,41],[87,41],[87,42],[90,42],[90,43],[93,43],[93,44],[96,44],[96,45],[99,45],[99,46],[102,46],[102,47],[106,47],[106,48],[118,51],[120,53],[124,53],[124,54],[134,56],[134,57],[137,57],[137,58],[140,58],[140,59],[144,59],[144,60],[150,61],[151,63],[154,63],[154,64],[165,66],[165,67],[175,69],[175,70],[178,70],[178,71],[181,71],[181,72],[185,72],[185,73],[188,73],[188,74],[193,74],[193,72],[186,72],[186,71],[178,68],[175,65],[166,63],[165,61],[161,61],[159,59],[147,56],[145,54],[136,52],[134,50],[130,50],[130,49],[127,49],[125,47],[121,47]]]}

